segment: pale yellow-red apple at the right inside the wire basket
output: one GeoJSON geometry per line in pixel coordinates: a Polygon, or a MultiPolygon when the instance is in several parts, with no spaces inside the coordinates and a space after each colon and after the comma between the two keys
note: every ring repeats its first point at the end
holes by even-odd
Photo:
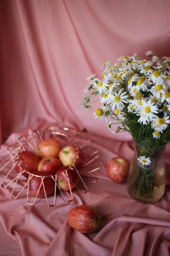
{"type": "Polygon", "coordinates": [[[74,145],[68,145],[62,148],[62,150],[59,153],[59,159],[62,162],[62,164],[71,166],[73,163],[76,166],[76,168],[81,168],[83,166],[83,162],[79,160],[77,156],[84,161],[84,155],[81,150],[76,149],[76,146],[74,145]]]}

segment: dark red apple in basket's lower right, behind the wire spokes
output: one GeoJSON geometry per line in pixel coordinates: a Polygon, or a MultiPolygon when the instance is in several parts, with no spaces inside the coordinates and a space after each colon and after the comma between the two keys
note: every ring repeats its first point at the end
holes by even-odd
{"type": "MultiPolygon", "coordinates": [[[[66,174],[65,170],[67,170],[68,168],[69,168],[69,166],[62,166],[61,168],[59,168],[56,171],[57,184],[60,189],[65,190],[65,191],[70,190],[68,179],[67,179],[67,176],[65,175],[66,174]],[[62,172],[64,172],[65,174],[63,174],[62,172]]],[[[79,181],[78,173],[76,172],[75,169],[68,169],[67,174],[68,174],[68,178],[69,178],[69,182],[70,182],[70,187],[71,187],[71,189],[74,189],[77,186],[78,181],[79,181]]]]}

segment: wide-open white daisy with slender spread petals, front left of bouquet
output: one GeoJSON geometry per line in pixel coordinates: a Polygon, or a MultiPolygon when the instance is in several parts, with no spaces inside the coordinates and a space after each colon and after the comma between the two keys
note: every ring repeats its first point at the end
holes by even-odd
{"type": "Polygon", "coordinates": [[[123,102],[127,103],[125,99],[128,97],[128,95],[124,94],[126,94],[126,92],[121,94],[121,90],[119,91],[119,93],[114,93],[114,95],[109,94],[110,101],[107,104],[111,103],[110,106],[112,107],[112,110],[114,110],[115,107],[117,107],[118,110],[122,107],[124,108],[123,102]]]}

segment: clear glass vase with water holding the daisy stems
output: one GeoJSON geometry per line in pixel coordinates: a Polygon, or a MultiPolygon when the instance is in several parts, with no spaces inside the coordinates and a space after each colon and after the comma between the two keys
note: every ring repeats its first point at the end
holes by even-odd
{"type": "Polygon", "coordinates": [[[165,167],[163,152],[167,144],[157,148],[142,147],[136,143],[135,154],[130,164],[127,191],[136,201],[154,203],[165,192],[165,167]],[[137,158],[150,157],[151,163],[143,165],[137,158]]]}

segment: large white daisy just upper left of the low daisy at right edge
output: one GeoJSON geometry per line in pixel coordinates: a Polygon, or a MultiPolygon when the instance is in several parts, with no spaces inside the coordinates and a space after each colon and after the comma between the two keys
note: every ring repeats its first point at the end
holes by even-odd
{"type": "Polygon", "coordinates": [[[147,122],[149,123],[152,121],[152,118],[158,113],[158,108],[153,102],[151,102],[151,100],[142,100],[142,107],[143,110],[140,113],[141,117],[139,118],[138,122],[140,122],[140,124],[142,122],[143,124],[147,124],[147,122]]]}

